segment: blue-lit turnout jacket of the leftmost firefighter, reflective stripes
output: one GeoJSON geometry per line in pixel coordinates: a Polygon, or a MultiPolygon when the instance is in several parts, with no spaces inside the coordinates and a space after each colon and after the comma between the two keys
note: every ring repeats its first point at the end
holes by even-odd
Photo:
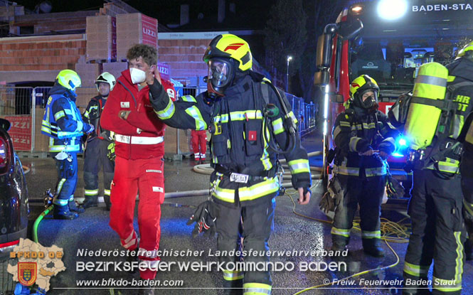
{"type": "Polygon", "coordinates": [[[87,128],[75,106],[75,95],[65,87],[55,84],[49,92],[44,111],[41,133],[50,136],[49,151],[80,152],[80,139],[87,128]]]}

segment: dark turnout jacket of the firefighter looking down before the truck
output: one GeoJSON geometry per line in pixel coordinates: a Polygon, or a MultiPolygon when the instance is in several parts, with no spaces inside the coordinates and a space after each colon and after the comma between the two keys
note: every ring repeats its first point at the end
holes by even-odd
{"type": "Polygon", "coordinates": [[[334,172],[346,176],[383,176],[386,166],[377,155],[360,156],[368,149],[391,154],[399,132],[383,112],[350,106],[336,117],[332,132],[337,148],[334,172]]]}

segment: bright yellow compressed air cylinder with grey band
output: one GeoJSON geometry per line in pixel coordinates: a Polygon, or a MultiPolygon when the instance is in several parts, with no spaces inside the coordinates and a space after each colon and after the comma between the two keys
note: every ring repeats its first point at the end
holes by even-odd
{"type": "Polygon", "coordinates": [[[404,127],[410,149],[425,149],[432,142],[442,110],[425,104],[428,100],[421,99],[445,100],[447,77],[448,70],[440,63],[425,63],[420,66],[404,127]],[[420,100],[416,100],[416,97],[420,100]]]}

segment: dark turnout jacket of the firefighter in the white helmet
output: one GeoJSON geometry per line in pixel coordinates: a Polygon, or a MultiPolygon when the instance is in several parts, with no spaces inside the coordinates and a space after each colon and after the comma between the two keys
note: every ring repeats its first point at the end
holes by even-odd
{"type": "Polygon", "coordinates": [[[102,98],[102,95],[97,95],[96,97],[92,97],[92,100],[87,104],[85,108],[85,112],[83,114],[83,121],[87,124],[94,125],[94,131],[89,134],[87,141],[91,141],[92,139],[96,139],[99,137],[100,139],[105,139],[107,141],[112,141],[112,135],[110,131],[103,129],[100,126],[100,116],[102,115],[102,110],[105,107],[105,103],[107,99],[102,98]]]}

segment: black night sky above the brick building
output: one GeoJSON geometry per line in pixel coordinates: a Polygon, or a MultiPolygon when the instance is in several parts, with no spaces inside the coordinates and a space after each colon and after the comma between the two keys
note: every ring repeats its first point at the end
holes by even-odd
{"type": "MultiPolygon", "coordinates": [[[[53,4],[51,12],[80,11],[80,10],[98,10],[103,6],[104,1],[100,0],[80,0],[63,1],[50,0],[53,4]]],[[[16,3],[33,10],[40,0],[17,0],[16,3]]],[[[218,0],[127,0],[124,1],[148,16],[157,18],[159,23],[167,25],[169,23],[179,23],[180,5],[190,5],[191,21],[195,20],[198,14],[203,16],[202,23],[213,23],[216,21],[218,0]]],[[[228,26],[234,28],[263,28],[265,19],[269,14],[269,7],[275,3],[275,0],[226,0],[236,5],[237,19],[229,21],[228,26]]],[[[229,15],[227,15],[229,16],[229,15]]],[[[198,29],[198,28],[196,28],[198,29]]]]}

